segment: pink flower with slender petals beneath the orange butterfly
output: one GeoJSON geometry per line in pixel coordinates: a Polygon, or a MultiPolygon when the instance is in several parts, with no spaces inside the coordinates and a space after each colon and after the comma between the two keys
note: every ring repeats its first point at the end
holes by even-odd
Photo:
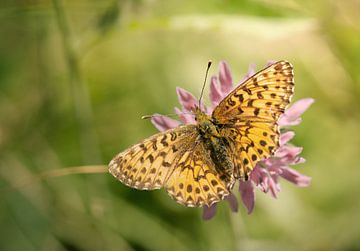
{"type": "MultiPolygon", "coordinates": [[[[273,62],[269,62],[270,65],[273,62]]],[[[211,114],[212,110],[233,90],[233,80],[230,68],[226,62],[220,62],[219,75],[211,77],[210,83],[210,100],[211,108],[205,107],[201,104],[201,109],[207,114],[211,114]]],[[[251,65],[245,78],[239,82],[242,84],[247,78],[255,74],[255,66],[251,65]]],[[[181,109],[175,108],[176,114],[183,124],[194,124],[195,119],[191,113],[191,108],[198,104],[198,100],[188,91],[177,87],[181,109]]],[[[280,117],[278,124],[281,128],[285,126],[298,125],[301,122],[300,116],[310,107],[314,102],[312,98],[305,98],[295,102],[291,107],[287,108],[284,114],[280,117]]],[[[153,116],[151,122],[154,126],[164,131],[174,128],[180,124],[179,121],[171,119],[166,116],[153,116]]],[[[259,161],[255,168],[250,173],[250,178],[247,181],[239,182],[239,191],[241,200],[246,207],[248,214],[250,214],[255,206],[255,188],[259,188],[264,193],[270,193],[274,198],[277,198],[280,192],[279,178],[283,178],[292,182],[299,187],[306,187],[310,185],[311,178],[300,174],[298,171],[290,168],[291,165],[296,165],[305,162],[305,159],[299,156],[302,151],[301,147],[296,147],[289,144],[289,141],[295,136],[293,131],[286,131],[280,135],[280,147],[276,153],[266,159],[259,161]]],[[[238,202],[234,194],[230,194],[226,201],[228,201],[232,211],[238,211],[238,202]]],[[[216,213],[216,204],[211,207],[204,206],[203,219],[211,219],[216,213]]]]}

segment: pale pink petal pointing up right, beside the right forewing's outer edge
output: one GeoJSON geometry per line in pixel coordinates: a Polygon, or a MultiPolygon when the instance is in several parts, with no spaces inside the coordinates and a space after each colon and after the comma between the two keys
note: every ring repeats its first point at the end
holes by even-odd
{"type": "Polygon", "coordinates": [[[312,98],[304,98],[295,102],[291,107],[285,110],[285,113],[279,119],[280,126],[298,125],[301,122],[301,114],[303,114],[315,100],[312,98]]]}

